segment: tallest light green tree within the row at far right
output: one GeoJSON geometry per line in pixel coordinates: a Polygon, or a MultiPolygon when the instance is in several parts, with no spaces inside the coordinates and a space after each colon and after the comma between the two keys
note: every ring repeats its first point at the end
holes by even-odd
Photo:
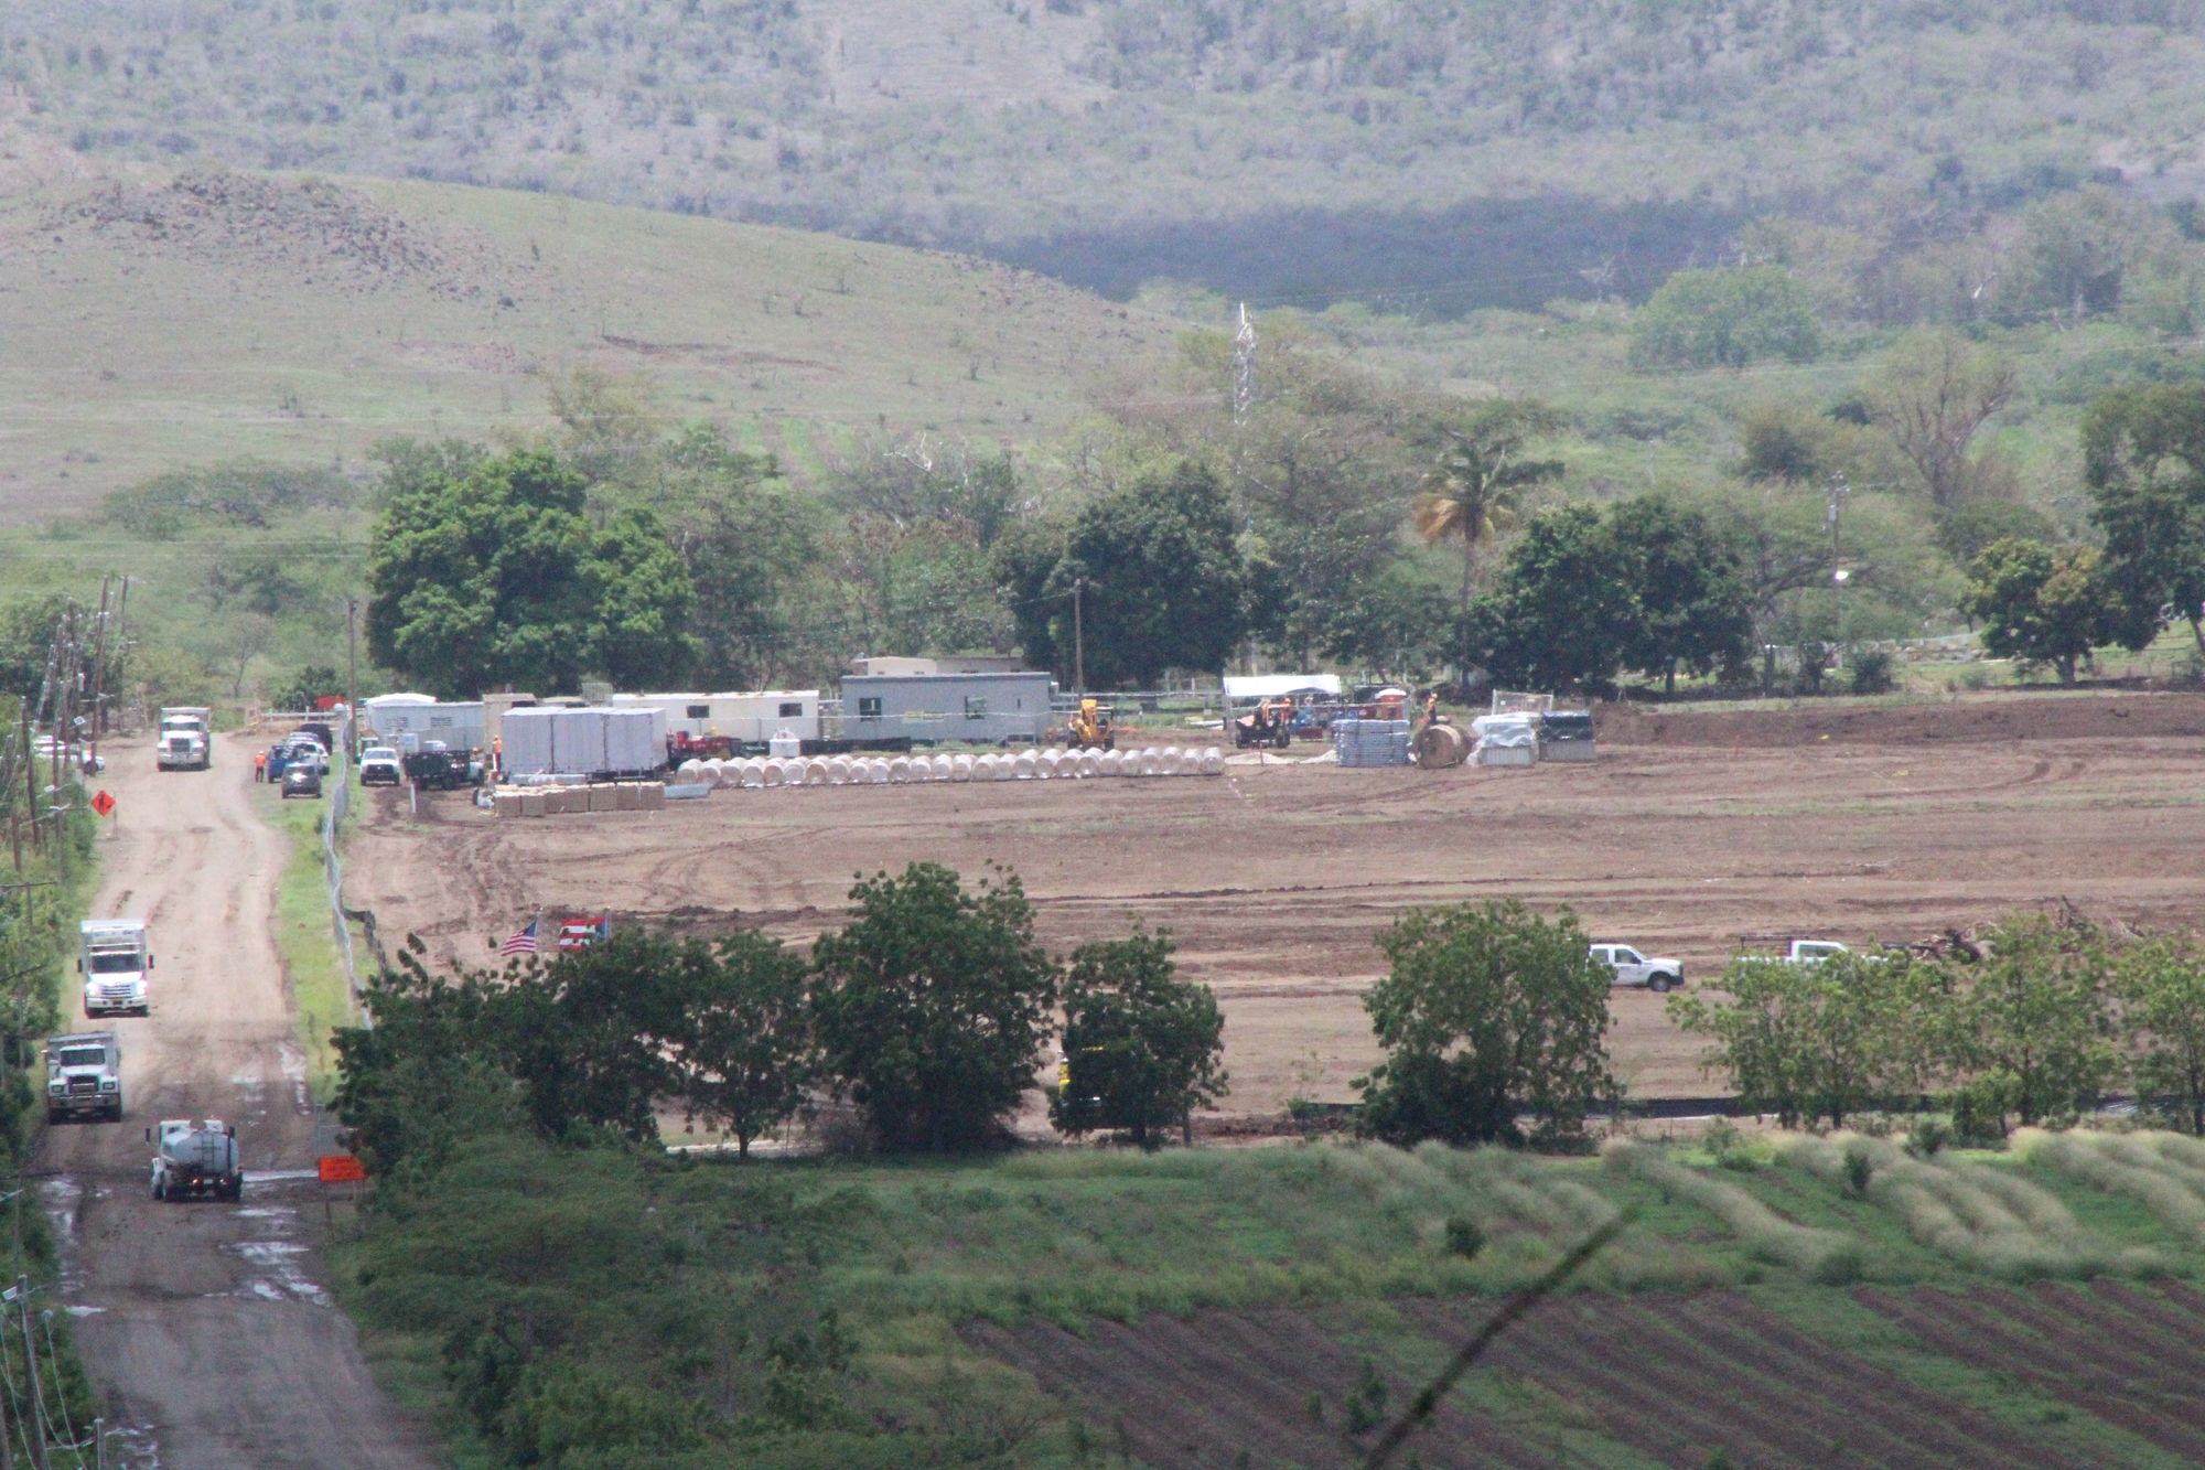
{"type": "Polygon", "coordinates": [[[2117,1068],[2110,976],[2097,934],[2018,914],[1984,936],[1984,956],[1954,967],[1958,998],[1947,1066],[1969,1077],[2000,1128],[2095,1106],[2117,1068]]]}

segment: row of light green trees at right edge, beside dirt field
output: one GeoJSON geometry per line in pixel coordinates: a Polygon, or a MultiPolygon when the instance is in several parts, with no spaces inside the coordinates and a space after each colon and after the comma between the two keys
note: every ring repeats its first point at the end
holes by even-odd
{"type": "Polygon", "coordinates": [[[2205,1135],[2205,956],[2187,936],[2112,945],[2082,923],[2015,914],[1954,958],[1733,960],[1669,1015],[1779,1123],[1940,1097],[1962,1137],[2070,1119],[2130,1086],[2205,1135]]]}

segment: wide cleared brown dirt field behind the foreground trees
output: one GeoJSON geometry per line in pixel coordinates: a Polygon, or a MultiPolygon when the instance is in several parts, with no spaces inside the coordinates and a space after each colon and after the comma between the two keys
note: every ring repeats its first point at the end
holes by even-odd
{"type": "MultiPolygon", "coordinates": [[[[858,872],[1014,870],[1058,949],[1169,925],[1226,1011],[1228,1112],[1349,1099],[1372,1059],[1372,936],[1413,905],[1574,905],[1594,938],[1711,976],[1749,931],[1907,940],[2068,898],[2132,925],[2205,918],[2205,700],[1614,715],[1592,766],[1341,770],[714,792],[664,812],[496,821],[375,792],[348,896],[388,938],[481,965],[531,914],[805,940],[858,872]]],[[[1632,1090],[1711,1090],[1698,1048],[1618,993],[1632,1090]]]]}

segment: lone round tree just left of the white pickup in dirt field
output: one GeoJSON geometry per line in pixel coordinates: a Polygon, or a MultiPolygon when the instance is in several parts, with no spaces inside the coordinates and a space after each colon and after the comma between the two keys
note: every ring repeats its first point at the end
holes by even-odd
{"type": "Polygon", "coordinates": [[[1561,1143],[1618,1095],[1607,1068],[1610,971],[1577,914],[1517,901],[1413,909],[1378,936],[1389,973],[1363,998],[1387,1057],[1367,1077],[1363,1132],[1391,1143],[1561,1143]]]}

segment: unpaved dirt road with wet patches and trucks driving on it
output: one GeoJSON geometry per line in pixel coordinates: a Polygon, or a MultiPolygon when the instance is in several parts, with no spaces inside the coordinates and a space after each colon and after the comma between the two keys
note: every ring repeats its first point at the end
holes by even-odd
{"type": "Polygon", "coordinates": [[[154,1013],[112,1022],[123,1123],[51,1128],[40,1165],[77,1338],[121,1428],[110,1463],[430,1466],[320,1285],[315,1117],[269,929],[287,843],[256,814],[249,746],[223,737],[212,773],[159,775],[150,746],[119,744],[101,784],[121,828],[101,841],[95,914],[148,920],[154,1013]],[[148,1196],[143,1130],[185,1115],[238,1126],[243,1205],[148,1196]]]}

